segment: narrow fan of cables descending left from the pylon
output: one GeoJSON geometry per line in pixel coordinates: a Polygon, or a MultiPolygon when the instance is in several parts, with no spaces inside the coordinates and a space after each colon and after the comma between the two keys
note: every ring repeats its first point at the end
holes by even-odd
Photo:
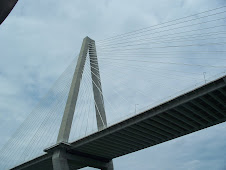
{"type": "Polygon", "coordinates": [[[0,150],[0,169],[9,169],[37,156],[56,143],[72,76],[75,58],[40,103],[0,150]]]}

